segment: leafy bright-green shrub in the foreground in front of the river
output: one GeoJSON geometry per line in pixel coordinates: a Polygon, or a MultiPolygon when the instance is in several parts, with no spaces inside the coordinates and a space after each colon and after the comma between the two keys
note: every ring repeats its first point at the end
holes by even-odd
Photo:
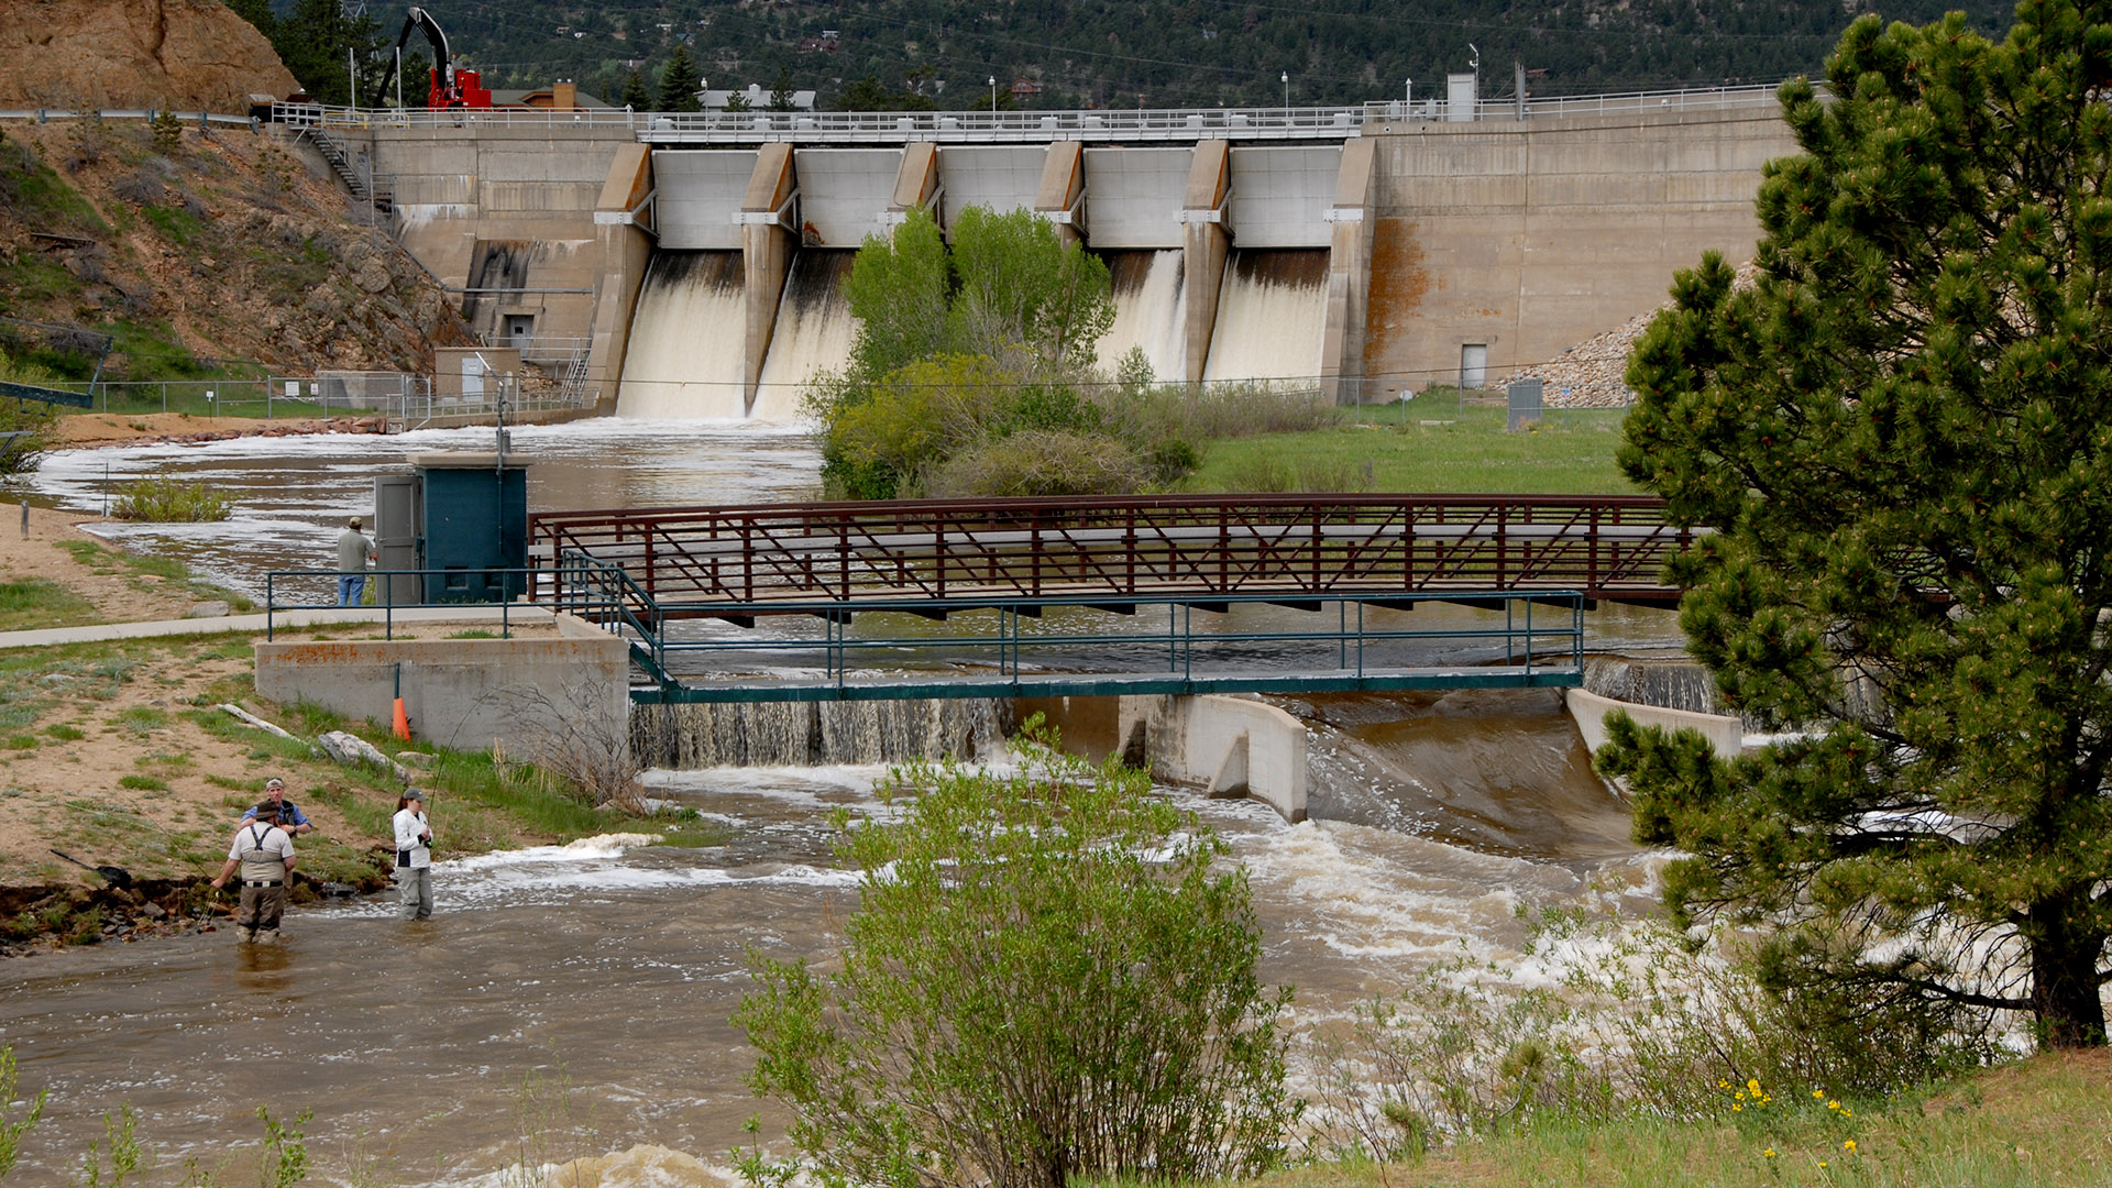
{"type": "Polygon", "coordinates": [[[1198,1180],[1280,1158],[1261,930],[1225,843],[1119,765],[1026,744],[1012,776],[917,765],[864,871],[841,970],[752,953],[750,1084],[819,1182],[887,1188],[1198,1180]]]}

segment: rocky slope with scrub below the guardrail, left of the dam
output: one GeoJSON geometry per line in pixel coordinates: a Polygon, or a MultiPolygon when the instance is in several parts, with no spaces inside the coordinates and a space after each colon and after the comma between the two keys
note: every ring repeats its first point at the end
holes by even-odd
{"type": "Polygon", "coordinates": [[[435,342],[469,340],[448,294],[283,129],[53,120],[0,137],[0,315],[95,332],[0,323],[0,349],[32,364],[87,378],[108,334],[106,378],[429,370],[435,342]]]}

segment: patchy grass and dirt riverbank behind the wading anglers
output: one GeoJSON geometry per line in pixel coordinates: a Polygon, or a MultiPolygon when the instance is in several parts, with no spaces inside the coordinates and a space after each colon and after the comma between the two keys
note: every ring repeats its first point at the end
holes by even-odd
{"type": "Polygon", "coordinates": [[[722,839],[695,818],[596,810],[522,763],[406,744],[376,723],[266,702],[251,664],[243,634],[0,651],[0,949],[129,934],[146,926],[150,903],[171,920],[196,913],[211,903],[196,884],[220,871],[237,818],[270,776],[287,780],[287,799],[317,824],[298,843],[296,903],[323,881],[386,886],[389,818],[403,784],[384,767],[338,765],[310,748],[329,729],[365,738],[433,791],[444,858],[598,833],[646,831],[678,846],[722,839]],[[243,725],[222,704],[298,740],[243,725]],[[137,886],[108,888],[53,850],[122,867],[137,886]]]}

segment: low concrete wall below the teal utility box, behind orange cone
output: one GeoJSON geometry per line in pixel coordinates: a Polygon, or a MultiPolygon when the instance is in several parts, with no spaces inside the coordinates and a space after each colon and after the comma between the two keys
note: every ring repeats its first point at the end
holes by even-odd
{"type": "Polygon", "coordinates": [[[458,750],[498,740],[515,753],[549,731],[623,738],[627,645],[570,615],[558,615],[558,638],[260,643],[258,693],[389,723],[401,666],[412,738],[458,750]]]}

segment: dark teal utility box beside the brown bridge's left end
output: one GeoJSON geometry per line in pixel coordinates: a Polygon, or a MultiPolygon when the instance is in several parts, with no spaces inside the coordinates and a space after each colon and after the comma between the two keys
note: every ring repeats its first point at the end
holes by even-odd
{"type": "MultiPolygon", "coordinates": [[[[528,590],[528,467],[498,454],[412,454],[420,602],[511,602],[528,590]]],[[[376,495],[380,495],[376,490],[376,495]]]]}

